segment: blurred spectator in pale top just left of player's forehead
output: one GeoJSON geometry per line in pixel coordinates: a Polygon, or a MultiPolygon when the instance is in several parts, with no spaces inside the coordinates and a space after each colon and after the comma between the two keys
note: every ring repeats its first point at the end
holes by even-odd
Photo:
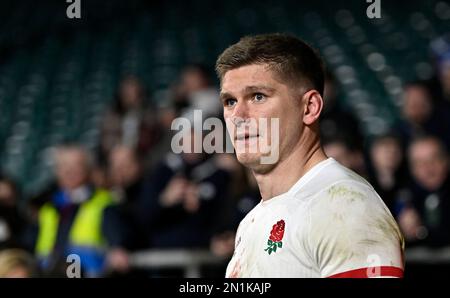
{"type": "Polygon", "coordinates": [[[183,117],[189,118],[194,109],[201,110],[203,117],[222,113],[219,92],[203,65],[189,65],[182,71],[180,82],[175,86],[173,102],[177,114],[183,117]]]}

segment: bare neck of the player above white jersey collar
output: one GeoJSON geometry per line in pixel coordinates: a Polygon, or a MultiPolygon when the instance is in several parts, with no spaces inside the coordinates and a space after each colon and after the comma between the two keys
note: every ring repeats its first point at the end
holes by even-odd
{"type": "Polygon", "coordinates": [[[309,147],[299,146],[269,173],[254,173],[263,201],[287,192],[306,172],[325,159],[327,156],[320,143],[315,142],[309,147]]]}

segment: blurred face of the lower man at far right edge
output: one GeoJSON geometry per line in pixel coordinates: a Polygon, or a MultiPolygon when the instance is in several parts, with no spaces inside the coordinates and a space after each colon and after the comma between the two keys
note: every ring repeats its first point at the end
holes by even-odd
{"type": "Polygon", "coordinates": [[[410,164],[414,178],[428,190],[434,191],[444,183],[448,161],[434,141],[423,141],[410,150],[410,164]]]}

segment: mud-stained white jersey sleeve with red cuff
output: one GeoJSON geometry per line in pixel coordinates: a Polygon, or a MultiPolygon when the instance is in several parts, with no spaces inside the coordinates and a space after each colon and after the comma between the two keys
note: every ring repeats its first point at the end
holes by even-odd
{"type": "Polygon", "coordinates": [[[403,277],[404,241],[369,185],[338,182],[311,200],[307,245],[321,277],[403,277]]]}

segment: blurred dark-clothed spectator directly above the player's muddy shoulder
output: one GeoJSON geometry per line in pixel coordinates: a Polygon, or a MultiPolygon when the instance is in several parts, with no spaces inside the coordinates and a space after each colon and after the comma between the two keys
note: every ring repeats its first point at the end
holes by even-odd
{"type": "Polygon", "coordinates": [[[406,182],[403,149],[394,135],[377,137],[370,148],[369,180],[385,204],[395,213],[395,198],[406,182]]]}

